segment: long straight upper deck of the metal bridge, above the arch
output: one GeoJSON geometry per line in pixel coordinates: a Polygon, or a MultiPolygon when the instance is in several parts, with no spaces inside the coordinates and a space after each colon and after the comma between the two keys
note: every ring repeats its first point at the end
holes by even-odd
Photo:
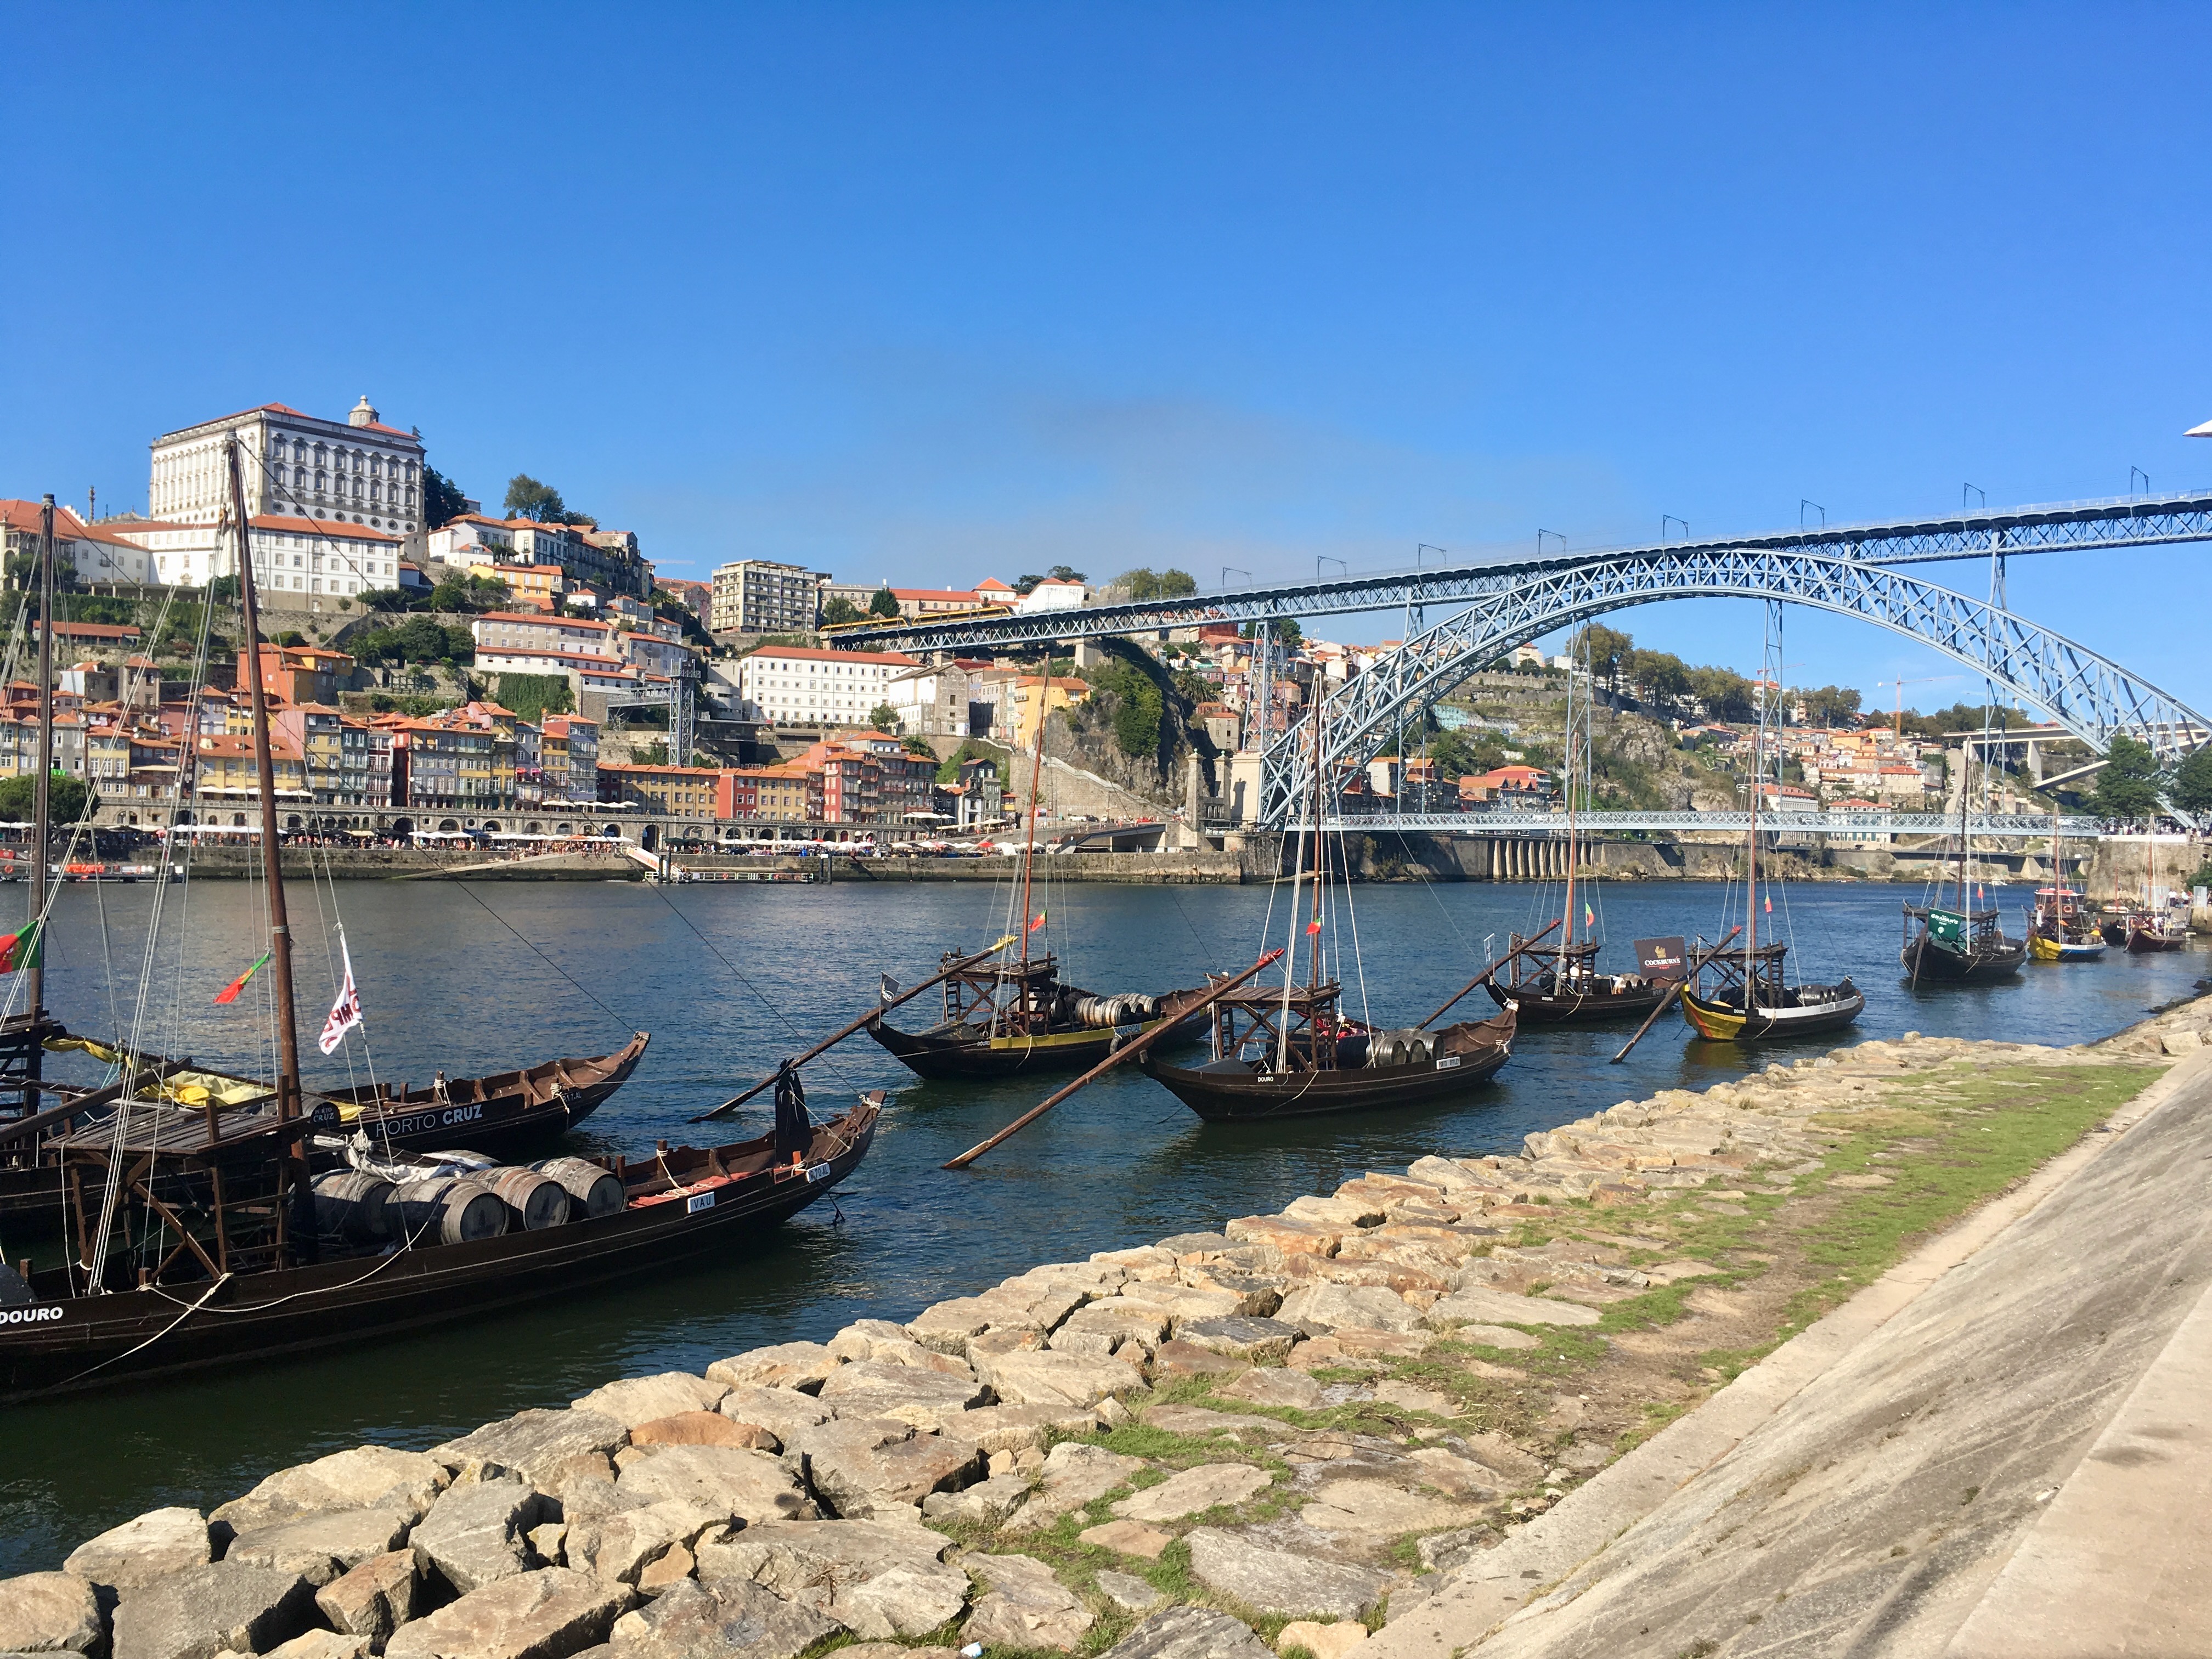
{"type": "Polygon", "coordinates": [[[1816,553],[1854,564],[1924,564],[1933,560],[1984,560],[1991,553],[2057,553],[2095,546],[2154,546],[2161,542],[2212,542],[2212,491],[2124,495],[2097,502],[2013,507],[1997,513],[1962,513],[1958,518],[1774,531],[1770,535],[1741,535],[1725,542],[1553,553],[1548,560],[1493,560],[1489,564],[1429,566],[1427,571],[1380,571],[1336,582],[1290,582],[1190,595],[1186,599],[1093,604],[1075,611],[1002,613],[958,622],[852,622],[825,628],[823,633],[834,644],[854,650],[982,650],[991,646],[1035,646],[1048,639],[1097,639],[1102,635],[1197,628],[1206,622],[1243,624],[1267,617],[1402,611],[1405,606],[1425,604],[1486,604],[1498,593],[1544,573],[1571,571],[1590,560],[1608,564],[1648,560],[1655,566],[1670,568],[1681,555],[1816,553]]]}

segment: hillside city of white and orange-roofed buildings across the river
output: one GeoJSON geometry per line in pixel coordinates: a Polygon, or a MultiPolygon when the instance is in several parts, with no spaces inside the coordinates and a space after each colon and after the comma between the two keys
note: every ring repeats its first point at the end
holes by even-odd
{"type": "MultiPolygon", "coordinates": [[[[396,836],[471,836],[564,805],[697,825],[902,825],[975,832],[1009,821],[1015,757],[1062,714],[1086,765],[1113,772],[1124,810],[1210,816],[1237,757],[1254,757],[1314,697],[1400,641],[1338,644],[1296,622],[1270,637],[1208,624],[1082,644],[1073,657],[931,659],[836,648],[858,619],[1051,613],[1194,593],[1181,571],[1093,582],[1057,564],[973,588],[856,582],[776,560],[710,580],[659,575],[637,535],[604,529],[515,476],[502,515],[427,460],[418,431],[363,398],[345,418],[263,405],[150,445],[148,511],[55,509],[62,599],[53,622],[55,770],[86,783],[97,823],[243,827],[254,792],[246,675],[274,699],[288,827],[327,807],[398,814],[396,836]],[[243,438],[265,644],[237,637],[226,434],[243,438]],[[823,630],[832,630],[825,635],[823,630]],[[204,666],[201,666],[204,664],[204,666]],[[670,752],[688,684],[692,752],[670,752]]],[[[0,776],[35,770],[40,507],[0,502],[13,633],[0,776]]],[[[1783,690],[1639,650],[1604,626],[1575,641],[1608,706],[1597,803],[1741,807],[1750,730],[1778,697],[1785,768],[1763,805],[1922,810],[1955,801],[1960,734],[2042,770],[2055,728],[1964,703],[1920,717],[1863,710],[1856,690],[1783,690]],[[1641,728],[1628,741],[1630,728],[1641,728]],[[1608,739],[1610,734],[1610,739],[1608,739]],[[1947,752],[1953,757],[1947,761],[1947,752]]],[[[1522,644],[1420,732],[1338,787],[1349,812],[1491,812],[1559,796],[1559,701],[1571,655],[1522,644]]],[[[1980,757],[1978,757],[1980,759],[1980,757]]],[[[2022,779],[2033,783],[2035,779],[2022,779]]],[[[1995,805],[2022,807],[2017,790],[1995,805]]],[[[2035,810],[2042,810],[2039,805],[2035,810]]],[[[1197,825],[1192,825],[1197,827],[1197,825]]]]}

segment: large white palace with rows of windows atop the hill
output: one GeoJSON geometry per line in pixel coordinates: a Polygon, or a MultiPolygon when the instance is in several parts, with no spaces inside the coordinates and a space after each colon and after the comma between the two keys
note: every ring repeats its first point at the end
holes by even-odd
{"type": "Polygon", "coordinates": [[[398,586],[400,540],[422,526],[422,440],[383,425],[367,398],[345,420],[265,403],[155,438],[148,518],[113,524],[153,553],[155,582],[204,586],[234,573],[217,535],[232,431],[246,451],[257,584],[316,611],[316,595],[398,586]]]}

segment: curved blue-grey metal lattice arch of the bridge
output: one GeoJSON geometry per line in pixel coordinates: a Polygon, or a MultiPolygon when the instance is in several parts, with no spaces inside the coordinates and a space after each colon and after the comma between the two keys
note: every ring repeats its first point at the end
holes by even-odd
{"type": "MultiPolygon", "coordinates": [[[[1891,628],[2044,710],[2099,754],[2115,732],[2141,737],[2161,761],[2177,761],[2212,737],[2201,714],[2108,657],[1893,566],[1803,549],[1679,546],[1524,571],[1520,582],[1416,635],[1323,703],[1323,763],[1332,776],[1365,765],[1391,728],[1522,639],[1637,604],[1705,597],[1783,599],[1891,628]]],[[[1310,732],[1312,721],[1298,721],[1267,748],[1261,823],[1281,825],[1305,787],[1314,765],[1310,732]]]]}

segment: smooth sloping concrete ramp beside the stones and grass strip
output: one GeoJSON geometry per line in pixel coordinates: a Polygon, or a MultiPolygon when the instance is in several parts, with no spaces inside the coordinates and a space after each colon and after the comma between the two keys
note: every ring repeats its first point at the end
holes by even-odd
{"type": "Polygon", "coordinates": [[[1360,1659],[2212,1652],[2208,1108],[2192,1057],[1360,1659]]]}

